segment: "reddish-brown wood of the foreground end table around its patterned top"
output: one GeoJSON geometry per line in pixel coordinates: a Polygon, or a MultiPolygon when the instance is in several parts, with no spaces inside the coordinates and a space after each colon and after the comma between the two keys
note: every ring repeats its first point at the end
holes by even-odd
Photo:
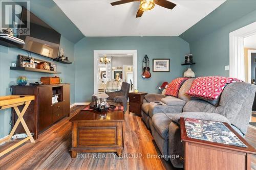
{"type": "Polygon", "coordinates": [[[184,169],[251,169],[251,154],[256,150],[227,123],[225,126],[248,148],[187,137],[184,118],[180,119],[181,141],[184,142],[184,169]]]}

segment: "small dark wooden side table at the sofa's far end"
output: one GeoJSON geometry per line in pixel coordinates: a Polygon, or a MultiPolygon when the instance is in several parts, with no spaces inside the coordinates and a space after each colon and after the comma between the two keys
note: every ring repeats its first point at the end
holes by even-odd
{"type": "Polygon", "coordinates": [[[129,114],[130,112],[141,116],[141,105],[143,103],[144,96],[146,92],[131,92],[128,93],[129,96],[129,114]]]}

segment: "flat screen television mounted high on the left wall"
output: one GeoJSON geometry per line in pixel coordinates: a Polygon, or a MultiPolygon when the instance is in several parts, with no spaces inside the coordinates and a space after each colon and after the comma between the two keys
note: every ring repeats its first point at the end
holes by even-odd
{"type": "Polygon", "coordinates": [[[30,25],[29,35],[18,35],[18,38],[25,41],[22,49],[45,57],[58,57],[60,34],[26,8],[22,9],[21,15],[22,22],[30,25]],[[30,13],[29,21],[28,12],[30,13]]]}

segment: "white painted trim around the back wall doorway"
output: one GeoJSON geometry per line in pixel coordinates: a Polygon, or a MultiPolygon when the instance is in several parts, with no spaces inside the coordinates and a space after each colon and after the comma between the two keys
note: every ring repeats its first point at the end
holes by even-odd
{"type": "Polygon", "coordinates": [[[100,55],[111,55],[111,54],[132,54],[133,56],[133,78],[134,78],[134,89],[137,87],[137,50],[94,50],[93,51],[93,84],[94,84],[94,94],[98,93],[98,58],[100,55]],[[95,76],[97,75],[97,76],[95,76]]]}

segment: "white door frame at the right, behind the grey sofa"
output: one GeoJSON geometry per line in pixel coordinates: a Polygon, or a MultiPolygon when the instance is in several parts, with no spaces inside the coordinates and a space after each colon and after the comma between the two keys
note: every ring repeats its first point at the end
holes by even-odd
{"type": "Polygon", "coordinates": [[[253,22],[245,27],[229,33],[229,77],[237,78],[237,70],[244,68],[244,62],[239,63],[238,61],[244,61],[244,56],[240,56],[238,59],[236,56],[238,51],[238,38],[245,38],[256,33],[256,22],[253,22]],[[243,64],[243,65],[242,65],[243,64]]]}

